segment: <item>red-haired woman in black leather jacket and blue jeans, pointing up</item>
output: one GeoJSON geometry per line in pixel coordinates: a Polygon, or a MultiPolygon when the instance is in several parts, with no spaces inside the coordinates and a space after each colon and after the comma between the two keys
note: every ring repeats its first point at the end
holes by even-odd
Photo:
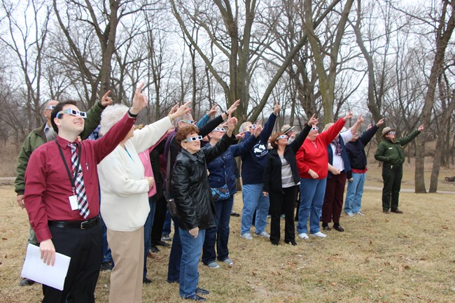
{"type": "Polygon", "coordinates": [[[179,295],[184,299],[205,301],[200,295],[209,294],[209,291],[197,288],[197,263],[204,244],[205,230],[215,226],[207,162],[216,159],[235,142],[232,130],[236,124],[236,118],[228,118],[228,132],[216,145],[202,150],[202,136],[198,135],[194,125],[181,127],[175,136],[182,148],[176,157],[172,183],[182,246],[179,295]]]}

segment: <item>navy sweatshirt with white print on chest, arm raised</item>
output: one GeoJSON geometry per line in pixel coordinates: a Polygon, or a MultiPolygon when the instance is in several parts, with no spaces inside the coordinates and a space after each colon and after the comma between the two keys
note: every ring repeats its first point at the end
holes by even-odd
{"type": "MultiPolygon", "coordinates": [[[[267,162],[267,141],[272,134],[275,125],[276,115],[271,113],[264,128],[258,136],[258,141],[248,150],[248,153],[241,155],[241,182],[245,184],[261,184],[263,182],[265,162],[267,162]]],[[[245,134],[245,139],[252,136],[250,132],[245,134]]]]}

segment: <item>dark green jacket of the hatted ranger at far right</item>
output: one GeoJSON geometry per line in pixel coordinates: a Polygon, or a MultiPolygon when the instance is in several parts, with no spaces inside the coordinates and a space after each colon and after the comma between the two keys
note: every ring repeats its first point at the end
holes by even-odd
{"type": "Polygon", "coordinates": [[[420,132],[414,130],[411,134],[404,136],[400,139],[395,139],[395,143],[385,139],[377,147],[374,159],[384,162],[388,165],[402,165],[405,162],[405,151],[402,146],[412,141],[420,132]]]}

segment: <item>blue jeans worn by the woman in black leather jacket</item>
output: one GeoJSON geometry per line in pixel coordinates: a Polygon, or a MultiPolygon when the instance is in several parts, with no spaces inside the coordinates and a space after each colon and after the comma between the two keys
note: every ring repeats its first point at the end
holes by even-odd
{"type": "Polygon", "coordinates": [[[196,238],[188,230],[180,228],[179,232],[182,244],[179,295],[190,297],[195,295],[197,291],[197,282],[199,281],[197,264],[201,256],[202,244],[204,244],[205,230],[200,230],[196,238]]]}

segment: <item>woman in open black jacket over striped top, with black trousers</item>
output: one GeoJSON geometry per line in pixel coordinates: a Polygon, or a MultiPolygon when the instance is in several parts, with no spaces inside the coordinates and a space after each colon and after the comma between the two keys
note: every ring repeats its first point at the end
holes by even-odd
{"type": "Polygon", "coordinates": [[[270,241],[279,244],[280,217],[284,211],[285,227],[284,241],[286,244],[297,245],[294,229],[294,202],[297,198],[300,184],[299,171],[295,160],[295,153],[307,138],[311,125],[317,125],[315,115],[292,143],[288,143],[288,136],[283,132],[276,132],[270,137],[272,150],[267,155],[264,169],[264,195],[270,195],[270,241]]]}

